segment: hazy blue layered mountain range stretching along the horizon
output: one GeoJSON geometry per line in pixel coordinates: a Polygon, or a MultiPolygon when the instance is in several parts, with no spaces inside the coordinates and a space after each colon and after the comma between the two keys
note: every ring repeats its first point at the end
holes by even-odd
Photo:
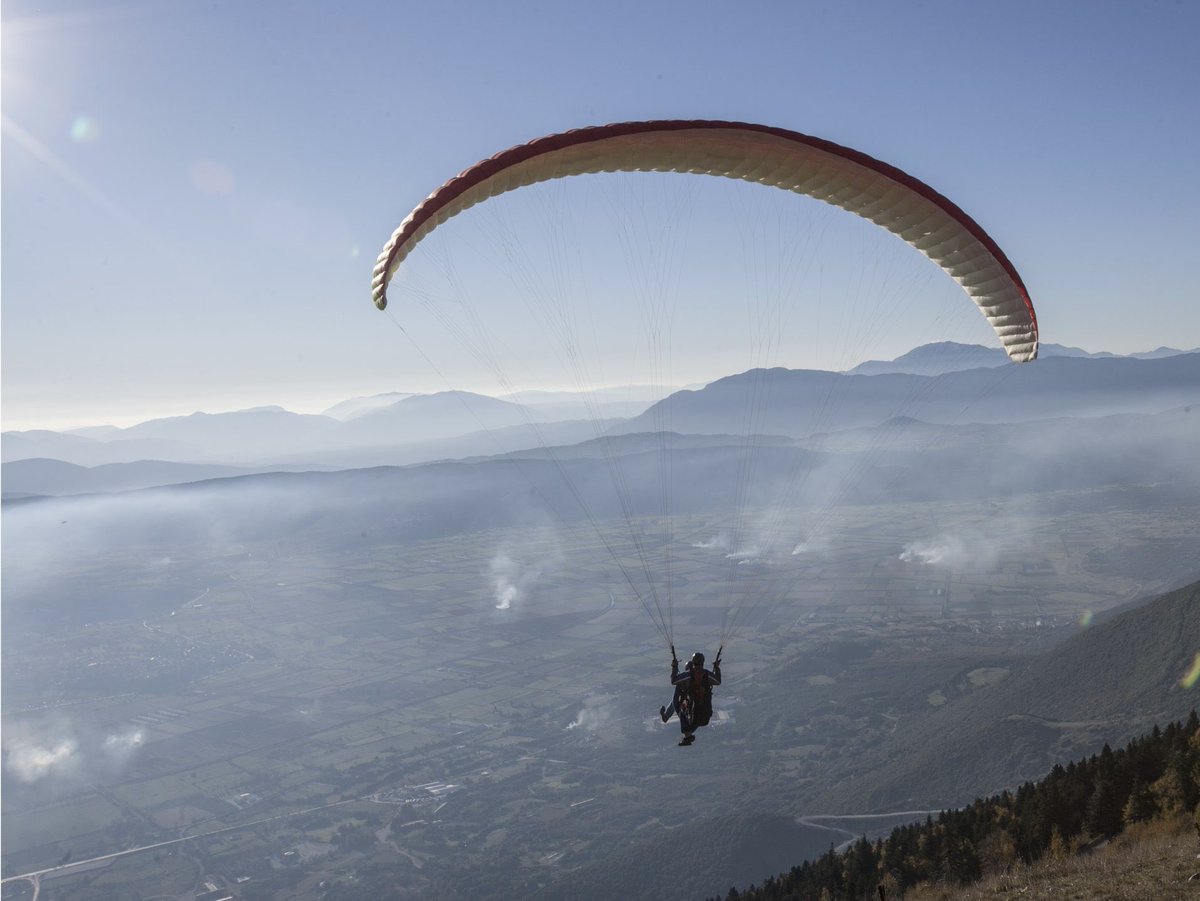
{"type": "MultiPolygon", "coordinates": [[[[1068,352],[1048,354],[1049,359],[1033,365],[994,367],[980,364],[990,358],[988,348],[930,344],[892,361],[892,371],[877,374],[752,370],[701,389],[677,391],[648,409],[643,409],[647,392],[641,389],[624,394],[605,389],[593,398],[527,392],[517,396],[522,403],[445,391],[354,398],[319,415],[265,407],[193,413],[127,428],[5,432],[5,492],[26,491],[8,482],[17,479],[17,471],[8,467],[29,459],[89,468],[140,461],[220,464],[239,471],[358,468],[508,453],[576,444],[601,434],[671,431],[808,438],[898,419],[1001,424],[1159,413],[1200,402],[1200,353],[1164,348],[1139,359],[1068,352]],[[952,365],[974,368],[942,371],[952,365]],[[908,370],[913,368],[938,371],[912,374],[908,370]],[[634,400],[635,395],[643,400],[634,400]],[[558,419],[583,408],[590,410],[589,416],[558,419]],[[618,412],[636,415],[616,415],[618,412]]],[[[884,365],[872,366],[878,370],[884,365]]],[[[152,476],[131,476],[125,483],[186,481],[193,475],[186,469],[172,475],[160,467],[152,476]]],[[[106,486],[113,477],[112,471],[100,474],[89,489],[109,491],[106,486]]],[[[74,479],[77,485],[83,481],[74,479]]]]}

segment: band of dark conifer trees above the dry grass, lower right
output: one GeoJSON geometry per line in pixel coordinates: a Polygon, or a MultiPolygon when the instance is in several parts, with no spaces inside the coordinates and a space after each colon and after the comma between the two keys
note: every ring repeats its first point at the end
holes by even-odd
{"type": "Polygon", "coordinates": [[[878,897],[880,887],[899,899],[918,885],[965,885],[1018,863],[1066,857],[1135,823],[1195,822],[1198,805],[1200,719],[1193,710],[1121,750],[1105,744],[1015,792],[900,827],[887,839],[859,839],[844,852],[830,848],[761,885],[730,889],[724,901],[859,901],[878,897]]]}

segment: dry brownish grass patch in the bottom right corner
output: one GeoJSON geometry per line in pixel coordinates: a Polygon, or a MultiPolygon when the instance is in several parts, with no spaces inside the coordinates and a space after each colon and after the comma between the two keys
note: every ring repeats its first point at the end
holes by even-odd
{"type": "Polygon", "coordinates": [[[1200,842],[1188,819],[1159,822],[1127,830],[1091,853],[1014,866],[966,888],[922,885],[906,894],[905,901],[1196,900],[1198,852],[1200,842]]]}

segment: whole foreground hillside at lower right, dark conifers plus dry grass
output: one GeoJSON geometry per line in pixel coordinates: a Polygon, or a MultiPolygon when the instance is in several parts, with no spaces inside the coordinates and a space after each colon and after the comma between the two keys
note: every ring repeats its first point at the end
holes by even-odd
{"type": "Polygon", "coordinates": [[[929,900],[954,897],[961,887],[974,887],[976,896],[1024,896],[1039,882],[1051,889],[1036,895],[1045,897],[1182,897],[1190,875],[1178,864],[1183,848],[1195,847],[1183,836],[1192,828],[1200,834],[1198,813],[1200,719],[1193,710],[1187,721],[1156,725],[1121,750],[1105,744],[1099,753],[1055,765],[1038,782],[898,827],[874,842],[864,836],[842,852],[830,848],[725,897],[929,900]],[[1160,860],[1147,860],[1138,846],[1157,848],[1175,866],[1146,872],[1160,860]],[[1086,859],[1097,851],[1128,882],[1086,859]]]}

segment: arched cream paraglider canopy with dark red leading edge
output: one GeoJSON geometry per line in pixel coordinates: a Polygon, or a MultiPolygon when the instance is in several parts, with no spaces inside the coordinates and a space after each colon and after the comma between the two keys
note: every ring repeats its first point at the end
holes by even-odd
{"type": "Polygon", "coordinates": [[[451,216],[518,187],[600,172],[678,172],[755,181],[824,200],[900,236],[971,296],[1016,362],[1037,358],[1033,304],[1016,269],[986,232],[925,182],[850,148],[749,122],[655,120],[593,126],[538,138],[484,160],[422,200],[392,234],[372,276],[388,283],[404,258],[451,216]]]}

